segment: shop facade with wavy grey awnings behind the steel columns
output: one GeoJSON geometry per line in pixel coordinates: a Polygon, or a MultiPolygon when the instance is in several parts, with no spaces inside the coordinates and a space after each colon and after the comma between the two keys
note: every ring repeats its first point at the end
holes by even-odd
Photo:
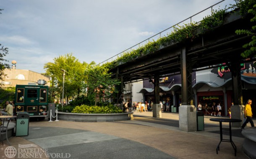
{"type": "MultiPolygon", "coordinates": [[[[241,81],[243,90],[243,105],[248,99],[253,101],[252,110],[256,114],[256,69],[254,63],[241,64],[241,81]]],[[[232,79],[230,69],[225,65],[196,71],[192,74],[194,104],[201,103],[204,110],[207,104],[210,112],[213,103],[222,106],[222,115],[227,116],[227,110],[232,106],[232,79]]],[[[170,106],[177,108],[181,103],[181,75],[160,79],[160,101],[169,101],[170,106]]],[[[146,101],[154,101],[154,85],[149,80],[144,80],[143,88],[139,91],[146,101]]]]}

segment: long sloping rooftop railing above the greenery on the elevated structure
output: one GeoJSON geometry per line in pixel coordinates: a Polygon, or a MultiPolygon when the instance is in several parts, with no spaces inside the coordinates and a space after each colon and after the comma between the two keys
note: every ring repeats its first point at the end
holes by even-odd
{"type": "Polygon", "coordinates": [[[145,45],[146,43],[150,42],[150,41],[153,41],[153,40],[157,40],[163,36],[166,36],[167,34],[170,34],[174,31],[175,27],[177,26],[183,26],[185,24],[188,24],[188,23],[198,23],[200,22],[204,17],[206,17],[207,15],[211,15],[213,13],[213,10],[220,10],[220,9],[225,9],[227,11],[231,11],[232,10],[232,6],[230,7],[227,7],[228,5],[233,5],[233,3],[235,3],[234,0],[222,0],[202,11],[200,11],[199,13],[196,13],[194,15],[192,15],[191,17],[189,18],[186,18],[185,20],[182,20],[180,21],[179,23],[175,24],[175,25],[172,25],[171,27],[165,29],[165,30],[162,30],[161,32],[147,38],[146,40],[143,40],[141,41],[140,43],[137,43],[136,45],[133,45],[131,46],[130,48],[126,49],[126,50],[123,50],[122,52],[116,54],[115,56],[112,56],[111,58],[108,58],[107,60],[99,63],[98,65],[102,65],[104,63],[107,63],[107,62],[112,62],[114,61],[115,59],[117,59],[118,57],[121,57],[123,55],[123,53],[126,53],[128,51],[132,51],[132,50],[136,50],[138,49],[139,47],[145,45]],[[232,2],[232,3],[231,3],[232,2]]]}

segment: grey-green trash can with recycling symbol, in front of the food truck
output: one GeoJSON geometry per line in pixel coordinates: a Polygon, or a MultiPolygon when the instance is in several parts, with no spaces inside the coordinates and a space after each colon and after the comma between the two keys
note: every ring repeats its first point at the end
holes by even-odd
{"type": "Polygon", "coordinates": [[[19,112],[16,119],[16,136],[29,135],[29,113],[19,112]]]}

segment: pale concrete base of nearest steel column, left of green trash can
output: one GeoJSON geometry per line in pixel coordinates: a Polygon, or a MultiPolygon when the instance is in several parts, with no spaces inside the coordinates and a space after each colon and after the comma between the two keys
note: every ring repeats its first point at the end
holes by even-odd
{"type": "Polygon", "coordinates": [[[197,131],[196,106],[181,105],[179,107],[179,128],[181,131],[197,131]]]}

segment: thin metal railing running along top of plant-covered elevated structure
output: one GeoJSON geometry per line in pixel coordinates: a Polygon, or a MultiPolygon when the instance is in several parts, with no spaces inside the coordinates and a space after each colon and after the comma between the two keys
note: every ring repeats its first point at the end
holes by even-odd
{"type": "MultiPolygon", "coordinates": [[[[99,63],[99,64],[97,64],[97,65],[102,65],[102,64],[107,63],[107,62],[112,62],[112,61],[114,61],[115,59],[117,59],[118,57],[121,57],[122,54],[123,54],[123,53],[126,53],[128,50],[131,50],[131,51],[132,51],[132,50],[138,49],[141,45],[143,45],[144,43],[145,43],[145,44],[148,43],[150,40],[152,40],[152,41],[153,41],[153,40],[157,40],[157,39],[161,38],[162,36],[167,35],[168,33],[172,33],[172,31],[174,31],[174,29],[175,29],[175,26],[182,26],[182,25],[187,24],[187,23],[185,23],[185,22],[192,23],[192,18],[195,18],[195,19],[196,19],[196,16],[199,16],[201,13],[208,12],[208,14],[204,14],[204,17],[207,16],[207,15],[211,15],[211,14],[212,14],[212,11],[214,10],[214,7],[216,7],[217,5],[219,5],[219,4],[223,3],[223,2],[227,2],[227,1],[228,1],[228,0],[222,0],[222,1],[220,1],[220,2],[218,2],[218,3],[216,3],[216,4],[214,4],[214,5],[212,5],[212,6],[210,6],[210,7],[208,7],[208,8],[206,8],[206,9],[200,11],[199,13],[196,13],[196,14],[192,15],[191,17],[189,17],[189,18],[187,18],[187,19],[185,19],[185,20],[182,20],[181,22],[179,22],[179,23],[177,23],[177,24],[175,24],[175,25],[172,25],[171,27],[169,27],[169,28],[167,28],[167,29],[165,29],[165,30],[162,30],[161,32],[159,32],[159,33],[157,33],[157,34],[155,34],[155,35],[153,35],[153,36],[147,38],[146,40],[143,40],[143,41],[141,41],[140,43],[137,43],[136,45],[133,45],[133,46],[131,46],[130,48],[128,48],[128,49],[126,49],[126,50],[123,50],[122,52],[116,54],[115,56],[112,56],[111,58],[108,58],[107,60],[105,60],[105,61],[103,61],[103,62],[101,62],[101,63],[99,63]],[[168,31],[168,32],[167,32],[167,31],[168,31]],[[164,34],[164,35],[163,35],[163,34],[164,34]]],[[[232,1],[234,1],[234,0],[232,0],[232,1]]],[[[220,9],[230,10],[232,7],[226,8],[227,5],[229,5],[229,4],[225,4],[225,7],[224,7],[224,8],[220,8],[220,7],[223,7],[223,6],[219,6],[218,10],[220,10],[220,9]]],[[[202,17],[200,16],[199,19],[200,19],[199,21],[193,21],[193,23],[198,23],[198,22],[200,22],[200,21],[202,20],[202,17]]]]}

